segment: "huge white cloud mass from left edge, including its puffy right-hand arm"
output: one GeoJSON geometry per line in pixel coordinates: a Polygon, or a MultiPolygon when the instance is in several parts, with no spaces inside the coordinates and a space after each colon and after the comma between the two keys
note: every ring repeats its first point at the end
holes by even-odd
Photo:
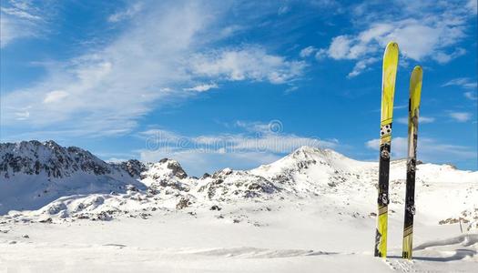
{"type": "Polygon", "coordinates": [[[305,63],[258,45],[211,49],[224,38],[224,5],[154,4],[131,17],[110,43],[47,63],[43,80],[3,92],[2,126],[35,126],[64,136],[126,134],[152,109],[191,96],[180,92],[184,88],[201,92],[239,80],[284,84],[303,72],[305,63]],[[194,86],[200,82],[215,84],[194,86]]]}

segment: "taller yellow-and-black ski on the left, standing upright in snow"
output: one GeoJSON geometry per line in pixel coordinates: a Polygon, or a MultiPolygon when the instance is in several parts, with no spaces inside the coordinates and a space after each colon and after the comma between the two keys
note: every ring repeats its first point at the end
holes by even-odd
{"type": "Polygon", "coordinates": [[[375,257],[387,257],[387,225],[389,204],[389,170],[390,148],[392,142],[393,95],[395,93],[395,78],[399,48],[397,43],[390,42],[383,54],[381,75],[381,136],[379,161],[379,197],[377,230],[375,235],[375,257]]]}

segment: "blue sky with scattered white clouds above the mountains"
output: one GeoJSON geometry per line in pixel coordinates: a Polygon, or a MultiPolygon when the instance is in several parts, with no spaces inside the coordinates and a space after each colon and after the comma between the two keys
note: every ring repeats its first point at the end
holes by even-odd
{"type": "Polygon", "coordinates": [[[1,131],[193,175],[302,145],[378,157],[381,56],[401,55],[393,157],[423,66],[419,159],[477,169],[476,1],[1,2],[1,131]]]}

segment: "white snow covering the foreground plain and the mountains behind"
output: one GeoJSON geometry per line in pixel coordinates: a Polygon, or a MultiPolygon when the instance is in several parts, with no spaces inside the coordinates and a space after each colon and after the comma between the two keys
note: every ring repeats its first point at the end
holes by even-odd
{"type": "Polygon", "coordinates": [[[404,160],[391,165],[386,259],[372,257],[376,163],[301,147],[270,165],[227,168],[201,178],[188,177],[172,159],[131,166],[127,172],[140,169],[139,176],[106,165],[112,184],[104,184],[104,174],[84,170],[61,169],[68,176],[50,179],[54,184],[45,183],[42,174],[23,172],[5,179],[0,170],[0,203],[14,208],[0,216],[0,272],[473,272],[478,267],[478,172],[418,166],[416,247],[408,261],[399,258],[404,160]],[[102,187],[86,187],[91,179],[102,187]],[[64,196],[21,209],[38,190],[62,184],[67,190],[56,188],[64,196]],[[21,202],[12,201],[14,193],[24,196],[21,202]]]}

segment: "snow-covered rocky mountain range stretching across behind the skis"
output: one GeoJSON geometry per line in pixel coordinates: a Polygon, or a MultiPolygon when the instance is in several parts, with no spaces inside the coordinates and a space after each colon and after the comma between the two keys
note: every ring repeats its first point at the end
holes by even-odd
{"type": "MultiPolygon", "coordinates": [[[[109,219],[147,217],[156,210],[193,210],[271,199],[314,198],[330,211],[352,217],[373,215],[377,164],[332,151],[300,147],[287,157],[251,170],[229,168],[188,177],[179,163],[129,160],[107,163],[78,147],[53,141],[0,146],[0,214],[10,218],[109,219]]],[[[405,161],[392,161],[391,213],[402,210],[405,161]]],[[[417,170],[419,212],[442,224],[478,220],[478,172],[421,164],[417,170]],[[440,202],[444,198],[454,201],[440,202]],[[458,201],[459,200],[459,201],[458,201]]],[[[325,209],[325,208],[324,208],[325,209]]]]}

